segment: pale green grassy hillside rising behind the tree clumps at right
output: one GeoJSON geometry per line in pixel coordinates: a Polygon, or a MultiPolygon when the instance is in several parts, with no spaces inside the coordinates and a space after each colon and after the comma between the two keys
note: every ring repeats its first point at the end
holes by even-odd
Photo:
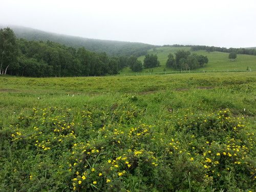
{"type": "MultiPolygon", "coordinates": [[[[251,70],[256,70],[256,56],[254,55],[243,55],[238,54],[236,61],[230,61],[228,59],[228,53],[223,52],[206,52],[204,50],[202,51],[191,51],[189,47],[184,48],[175,48],[175,47],[162,47],[157,48],[156,51],[153,51],[153,49],[149,50],[148,53],[157,54],[158,59],[160,61],[160,67],[153,68],[153,73],[163,73],[164,69],[166,69],[166,73],[168,72],[175,72],[173,69],[168,69],[165,67],[165,63],[167,60],[167,56],[169,53],[175,53],[177,50],[184,49],[187,51],[190,51],[191,53],[196,53],[200,55],[206,55],[209,59],[208,64],[204,68],[200,68],[194,71],[245,71],[248,68],[251,70]]],[[[144,56],[141,56],[138,58],[143,62],[144,56]]],[[[152,69],[143,69],[141,72],[148,73],[152,69]]],[[[136,74],[135,72],[132,72],[129,68],[123,69],[123,71],[120,72],[121,75],[124,74],[136,74]]]]}

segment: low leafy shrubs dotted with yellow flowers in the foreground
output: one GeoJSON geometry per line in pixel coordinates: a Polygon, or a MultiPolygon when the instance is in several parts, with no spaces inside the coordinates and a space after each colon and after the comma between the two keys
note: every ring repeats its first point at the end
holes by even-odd
{"type": "Polygon", "coordinates": [[[255,138],[242,119],[228,110],[175,117],[176,133],[169,136],[145,123],[122,129],[142,114],[127,104],[78,113],[56,107],[33,108],[20,114],[15,124],[1,130],[2,170],[13,170],[1,188],[7,189],[12,180],[13,188],[21,191],[182,191],[190,187],[189,182],[195,190],[212,185],[231,189],[230,184],[240,189],[252,187],[255,162],[251,145],[255,138]],[[100,126],[99,115],[104,115],[100,126]],[[10,158],[16,162],[12,167],[7,163],[10,158]]]}

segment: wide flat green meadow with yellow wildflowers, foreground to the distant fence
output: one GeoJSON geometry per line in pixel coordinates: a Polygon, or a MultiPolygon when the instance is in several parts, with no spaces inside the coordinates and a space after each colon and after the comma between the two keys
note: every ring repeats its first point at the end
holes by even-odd
{"type": "Polygon", "coordinates": [[[0,191],[253,191],[255,82],[0,76],[0,191]]]}

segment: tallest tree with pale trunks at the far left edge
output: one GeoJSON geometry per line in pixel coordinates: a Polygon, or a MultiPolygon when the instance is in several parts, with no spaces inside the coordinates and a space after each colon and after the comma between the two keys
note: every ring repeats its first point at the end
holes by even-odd
{"type": "Polygon", "coordinates": [[[10,28],[0,29],[0,74],[6,74],[17,61],[16,37],[10,28]]]}

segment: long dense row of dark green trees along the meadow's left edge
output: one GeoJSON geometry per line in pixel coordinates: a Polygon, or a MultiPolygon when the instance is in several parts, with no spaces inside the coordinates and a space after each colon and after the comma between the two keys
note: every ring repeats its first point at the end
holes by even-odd
{"type": "Polygon", "coordinates": [[[10,28],[0,29],[0,74],[29,77],[101,76],[118,74],[127,56],[110,57],[52,41],[17,39],[10,28]]]}

